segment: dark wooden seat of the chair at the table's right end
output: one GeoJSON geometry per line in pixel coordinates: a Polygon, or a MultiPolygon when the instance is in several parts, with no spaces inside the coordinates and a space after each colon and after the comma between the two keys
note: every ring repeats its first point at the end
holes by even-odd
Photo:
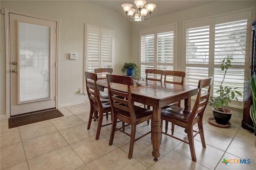
{"type": "Polygon", "coordinates": [[[168,119],[176,119],[178,121],[188,123],[188,117],[191,111],[184,110],[178,106],[171,106],[167,109],[162,110],[162,117],[167,117],[168,119]]]}

